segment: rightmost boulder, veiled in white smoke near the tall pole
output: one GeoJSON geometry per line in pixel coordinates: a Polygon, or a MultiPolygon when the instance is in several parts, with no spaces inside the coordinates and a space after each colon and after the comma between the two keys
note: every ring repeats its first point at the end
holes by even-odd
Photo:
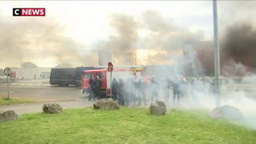
{"type": "Polygon", "coordinates": [[[225,105],[213,109],[210,113],[210,117],[239,120],[242,118],[242,113],[236,107],[225,105]]]}

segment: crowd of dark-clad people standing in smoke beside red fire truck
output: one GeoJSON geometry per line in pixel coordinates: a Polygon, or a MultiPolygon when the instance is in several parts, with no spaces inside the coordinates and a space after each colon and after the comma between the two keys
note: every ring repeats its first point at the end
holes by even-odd
{"type": "MultiPolygon", "coordinates": [[[[102,82],[99,77],[96,80],[90,79],[88,93],[95,100],[100,97],[100,87],[102,82]]],[[[138,105],[141,103],[147,106],[147,102],[159,100],[159,92],[162,89],[163,100],[169,104],[170,92],[172,91],[172,105],[178,105],[183,98],[191,96],[194,103],[198,103],[198,97],[203,95],[206,84],[201,77],[195,77],[190,82],[182,76],[174,76],[171,79],[165,75],[163,80],[153,77],[129,77],[128,79],[118,79],[114,77],[111,82],[112,98],[120,105],[138,105]]],[[[211,88],[211,87],[210,87],[211,88]]]]}

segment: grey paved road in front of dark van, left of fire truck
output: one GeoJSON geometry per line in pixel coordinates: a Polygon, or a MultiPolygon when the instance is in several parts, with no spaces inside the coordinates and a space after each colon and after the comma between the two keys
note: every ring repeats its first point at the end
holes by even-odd
{"type": "MultiPolygon", "coordinates": [[[[76,86],[59,87],[50,85],[48,80],[23,80],[9,85],[10,97],[22,97],[35,100],[72,100],[83,99],[81,88],[76,86]]],[[[7,94],[7,83],[0,83],[0,94],[7,94]]]]}

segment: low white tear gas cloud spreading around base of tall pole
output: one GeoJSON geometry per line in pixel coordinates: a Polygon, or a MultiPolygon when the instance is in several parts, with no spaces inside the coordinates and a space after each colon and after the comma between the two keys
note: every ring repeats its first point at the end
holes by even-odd
{"type": "MultiPolygon", "coordinates": [[[[255,92],[253,88],[250,89],[255,92]]],[[[246,92],[243,89],[236,91],[234,89],[228,88],[227,86],[222,86],[221,106],[228,105],[239,109],[243,117],[239,121],[233,122],[235,122],[235,124],[243,125],[245,127],[256,130],[256,99],[254,96],[249,97],[249,95],[252,95],[253,92],[246,92]]],[[[203,95],[197,95],[197,103],[195,103],[191,97],[184,98],[180,107],[183,107],[184,109],[204,109],[209,113],[215,109],[215,98],[210,95],[209,92],[207,92],[207,89],[203,95]]]]}

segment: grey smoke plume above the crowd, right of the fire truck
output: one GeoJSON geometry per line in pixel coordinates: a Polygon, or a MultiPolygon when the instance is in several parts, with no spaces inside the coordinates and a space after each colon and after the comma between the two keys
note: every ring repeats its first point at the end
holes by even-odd
{"type": "Polygon", "coordinates": [[[147,49],[156,51],[148,59],[158,57],[159,59],[156,59],[156,61],[170,64],[171,61],[177,61],[178,57],[183,56],[182,49],[187,41],[198,41],[203,38],[202,34],[194,34],[187,29],[183,29],[173,20],[168,22],[158,11],[145,11],[142,18],[144,25],[150,31],[150,35],[145,38],[144,44],[147,44],[147,49]]]}

